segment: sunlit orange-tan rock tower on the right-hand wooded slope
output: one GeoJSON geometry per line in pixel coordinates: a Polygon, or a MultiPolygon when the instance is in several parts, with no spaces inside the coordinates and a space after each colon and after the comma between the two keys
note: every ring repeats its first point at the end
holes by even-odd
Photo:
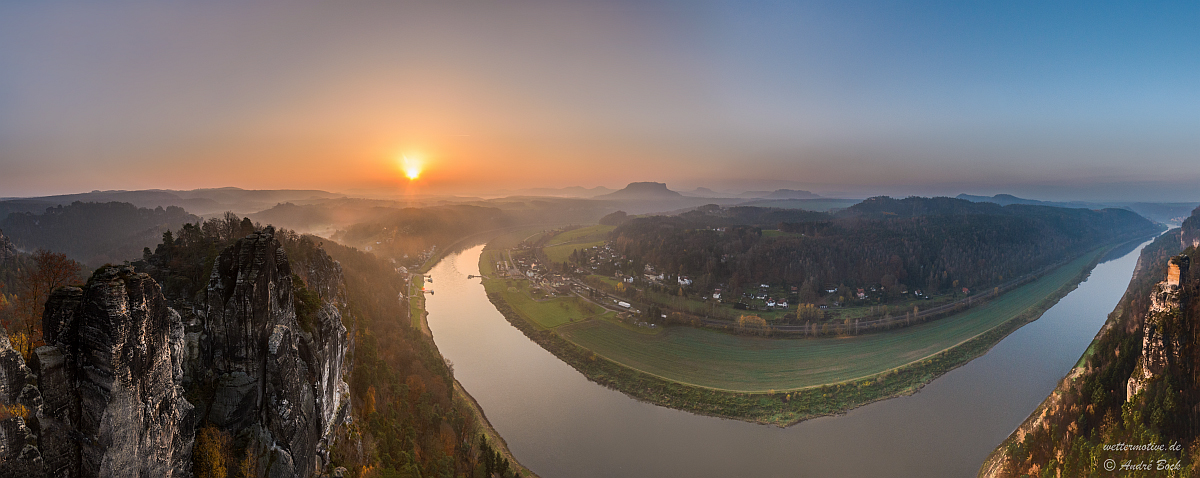
{"type": "Polygon", "coordinates": [[[1142,323],[1141,357],[1126,383],[1126,400],[1133,401],[1150,382],[1184,365],[1181,353],[1188,339],[1186,310],[1182,307],[1183,285],[1188,281],[1190,259],[1176,256],[1166,264],[1166,279],[1157,283],[1150,297],[1150,310],[1142,323]],[[1172,333],[1174,331],[1174,333],[1172,333]]]}

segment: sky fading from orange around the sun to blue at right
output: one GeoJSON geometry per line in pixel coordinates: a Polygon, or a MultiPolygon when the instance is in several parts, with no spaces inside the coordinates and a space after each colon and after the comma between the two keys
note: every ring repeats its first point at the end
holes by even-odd
{"type": "Polygon", "coordinates": [[[1198,165],[1196,2],[0,1],[0,197],[1200,201],[1198,165]]]}

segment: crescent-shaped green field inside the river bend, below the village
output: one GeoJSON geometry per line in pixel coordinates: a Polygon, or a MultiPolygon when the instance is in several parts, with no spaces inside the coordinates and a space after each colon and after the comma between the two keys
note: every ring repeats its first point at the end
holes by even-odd
{"type": "Polygon", "coordinates": [[[845,339],[760,339],[674,327],[644,335],[604,321],[560,330],[622,365],[684,384],[737,392],[792,390],[869,377],[983,334],[1076,280],[1088,253],[991,303],[935,322],[845,339]]]}

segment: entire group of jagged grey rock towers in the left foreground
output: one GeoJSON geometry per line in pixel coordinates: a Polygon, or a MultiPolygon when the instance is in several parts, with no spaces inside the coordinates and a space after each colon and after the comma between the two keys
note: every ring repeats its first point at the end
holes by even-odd
{"type": "Polygon", "coordinates": [[[186,318],[127,265],[55,291],[28,366],[0,339],[0,476],[188,477],[200,428],[257,476],[325,471],[349,417],[346,291],[323,250],[302,264],[272,228],[250,234],[186,318]]]}

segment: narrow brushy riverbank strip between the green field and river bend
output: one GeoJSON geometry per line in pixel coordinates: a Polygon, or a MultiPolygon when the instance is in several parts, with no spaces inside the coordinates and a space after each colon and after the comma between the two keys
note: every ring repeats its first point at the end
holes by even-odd
{"type": "MultiPolygon", "coordinates": [[[[938,376],[986,353],[988,349],[1020,327],[1036,321],[1058,299],[1078,287],[1102,256],[1103,251],[1091,255],[1086,265],[1078,274],[1055,287],[1052,292],[1045,294],[1033,305],[948,348],[901,366],[851,380],[794,389],[767,389],[766,392],[739,392],[682,383],[661,375],[626,366],[563,337],[556,330],[536,327],[514,310],[502,294],[490,291],[487,297],[509,323],[593,382],[665,407],[786,426],[815,417],[844,413],[874,401],[919,390],[938,376]]],[[[481,256],[481,270],[488,265],[484,264],[487,257],[490,257],[487,253],[481,256]]],[[[942,321],[953,319],[953,317],[948,317],[942,321]]]]}

